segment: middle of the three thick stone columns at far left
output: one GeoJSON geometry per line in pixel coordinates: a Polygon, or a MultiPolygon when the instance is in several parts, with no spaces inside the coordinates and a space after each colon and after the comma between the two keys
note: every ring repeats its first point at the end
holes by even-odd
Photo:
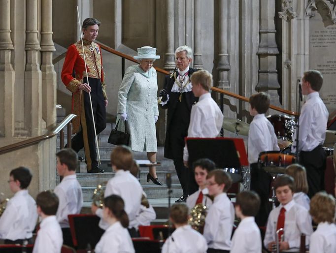
{"type": "Polygon", "coordinates": [[[42,87],[41,70],[38,62],[40,45],[37,37],[37,0],[27,0],[26,6],[25,126],[28,135],[38,136],[41,134],[42,87]]]}

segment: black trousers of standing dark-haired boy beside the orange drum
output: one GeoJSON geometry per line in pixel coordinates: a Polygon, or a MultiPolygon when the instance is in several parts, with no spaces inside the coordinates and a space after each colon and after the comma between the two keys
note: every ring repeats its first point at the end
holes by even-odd
{"type": "Polygon", "coordinates": [[[269,191],[271,183],[271,175],[264,169],[259,167],[259,164],[252,163],[251,168],[251,190],[258,193],[260,197],[260,209],[255,218],[258,226],[265,226],[269,217],[271,206],[269,203],[269,191]]]}

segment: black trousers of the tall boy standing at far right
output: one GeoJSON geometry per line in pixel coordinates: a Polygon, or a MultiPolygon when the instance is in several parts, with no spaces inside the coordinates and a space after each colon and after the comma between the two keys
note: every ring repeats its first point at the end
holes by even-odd
{"type": "Polygon", "coordinates": [[[311,198],[318,191],[324,190],[324,172],[327,154],[321,145],[312,151],[300,152],[300,164],[305,167],[308,181],[308,196],[311,198]]]}

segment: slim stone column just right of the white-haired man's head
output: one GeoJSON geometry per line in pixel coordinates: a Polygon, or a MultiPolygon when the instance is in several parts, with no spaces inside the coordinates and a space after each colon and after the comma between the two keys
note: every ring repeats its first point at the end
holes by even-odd
{"type": "Polygon", "coordinates": [[[194,22],[195,22],[195,39],[194,39],[194,68],[202,69],[202,28],[201,28],[201,0],[195,0],[194,22]]]}

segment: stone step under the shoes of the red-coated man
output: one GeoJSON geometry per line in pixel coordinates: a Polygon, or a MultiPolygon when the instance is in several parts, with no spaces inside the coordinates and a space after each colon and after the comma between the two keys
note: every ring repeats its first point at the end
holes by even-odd
{"type": "MultiPolygon", "coordinates": [[[[147,182],[147,173],[148,170],[143,170],[140,172],[140,179],[139,182],[142,187],[146,185],[152,185],[153,183],[151,181],[147,182]]],[[[171,174],[171,183],[172,184],[179,184],[179,180],[177,177],[177,174],[175,171],[170,170],[158,170],[157,176],[161,183],[165,184],[166,182],[166,174],[171,174]]],[[[105,173],[98,173],[98,174],[92,174],[92,173],[76,173],[77,180],[79,184],[82,187],[96,187],[102,182],[108,181],[112,177],[114,177],[114,172],[105,172],[105,173]]]]}

